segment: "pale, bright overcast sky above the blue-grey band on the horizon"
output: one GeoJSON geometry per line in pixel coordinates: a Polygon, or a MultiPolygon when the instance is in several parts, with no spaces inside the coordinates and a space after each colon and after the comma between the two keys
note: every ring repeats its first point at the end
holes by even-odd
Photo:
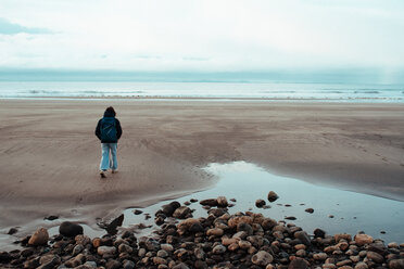
{"type": "Polygon", "coordinates": [[[404,67],[401,0],[1,0],[0,67],[404,67]]]}

